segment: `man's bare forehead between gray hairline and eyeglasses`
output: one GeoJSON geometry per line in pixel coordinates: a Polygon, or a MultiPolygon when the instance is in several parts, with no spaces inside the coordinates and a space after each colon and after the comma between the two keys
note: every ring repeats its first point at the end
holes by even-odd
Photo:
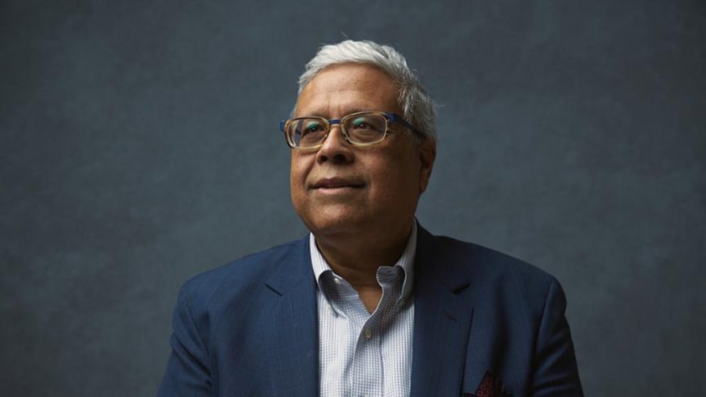
{"type": "Polygon", "coordinates": [[[297,99],[297,115],[342,117],[352,112],[400,113],[399,88],[387,73],[367,64],[339,64],[319,72],[297,99]]]}

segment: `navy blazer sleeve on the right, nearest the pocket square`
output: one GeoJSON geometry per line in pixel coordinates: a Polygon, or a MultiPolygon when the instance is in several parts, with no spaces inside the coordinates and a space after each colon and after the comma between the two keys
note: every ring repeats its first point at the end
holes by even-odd
{"type": "Polygon", "coordinates": [[[551,278],[534,350],[532,396],[583,396],[565,311],[564,292],[551,278]]]}

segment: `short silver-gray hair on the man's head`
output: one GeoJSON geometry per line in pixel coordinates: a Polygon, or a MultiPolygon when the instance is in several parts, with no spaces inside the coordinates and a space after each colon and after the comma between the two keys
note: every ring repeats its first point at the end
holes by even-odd
{"type": "Polygon", "coordinates": [[[371,41],[345,40],[324,45],[306,64],[299,76],[299,94],[326,66],[335,64],[369,64],[387,73],[400,87],[397,102],[404,110],[405,120],[420,132],[419,140],[436,140],[436,111],[434,103],[407,66],[405,57],[393,47],[371,41]]]}

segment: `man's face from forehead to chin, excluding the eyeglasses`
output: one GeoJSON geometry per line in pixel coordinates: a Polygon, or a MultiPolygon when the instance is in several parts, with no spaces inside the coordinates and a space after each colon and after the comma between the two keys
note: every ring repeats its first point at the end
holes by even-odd
{"type": "MultiPolygon", "coordinates": [[[[397,93],[392,79],[373,66],[328,66],[299,95],[297,117],[402,114],[397,93]]],[[[353,146],[339,125],[332,126],[321,148],[292,150],[292,203],[317,236],[399,235],[414,220],[434,155],[433,141],[417,143],[400,124],[371,146],[353,146]]]]}

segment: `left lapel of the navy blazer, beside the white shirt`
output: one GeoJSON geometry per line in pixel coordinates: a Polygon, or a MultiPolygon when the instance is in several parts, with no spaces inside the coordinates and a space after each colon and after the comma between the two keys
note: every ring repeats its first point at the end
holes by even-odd
{"type": "Polygon", "coordinates": [[[273,338],[268,354],[273,394],[318,396],[318,319],[316,281],[311,268],[309,237],[302,239],[265,282],[271,306],[273,338]]]}

